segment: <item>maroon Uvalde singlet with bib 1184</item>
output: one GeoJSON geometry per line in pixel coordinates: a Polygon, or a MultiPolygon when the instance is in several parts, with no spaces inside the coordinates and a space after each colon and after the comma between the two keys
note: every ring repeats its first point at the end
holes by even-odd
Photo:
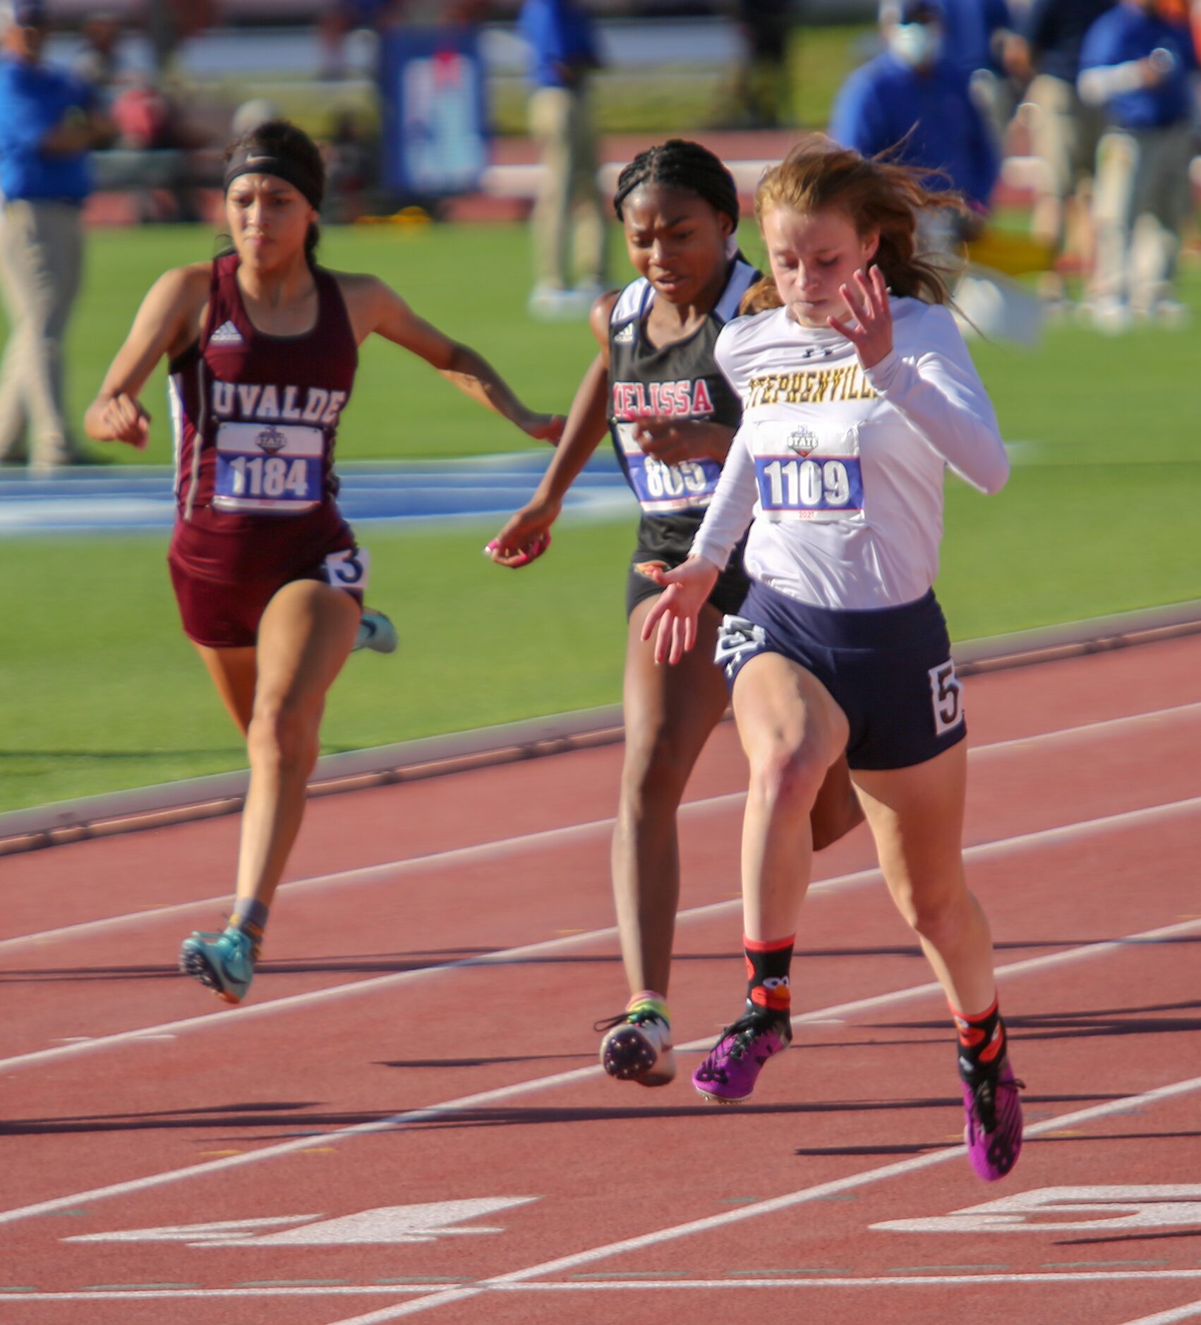
{"type": "Polygon", "coordinates": [[[273,337],[252,326],[237,265],[236,253],[212,264],[204,333],[171,364],[168,384],[172,574],[231,588],[284,584],[354,547],[335,501],[334,437],[358,363],[329,272],[313,272],[314,327],[273,337]]]}

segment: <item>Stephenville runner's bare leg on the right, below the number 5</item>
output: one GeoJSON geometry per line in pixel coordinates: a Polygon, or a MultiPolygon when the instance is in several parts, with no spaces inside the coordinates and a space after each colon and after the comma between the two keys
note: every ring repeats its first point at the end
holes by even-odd
{"type": "Polygon", "coordinates": [[[972,1014],[989,1007],[996,982],[988,920],[964,874],[966,771],[960,741],[909,768],[858,768],[852,776],[892,900],[950,1004],[972,1014]]]}

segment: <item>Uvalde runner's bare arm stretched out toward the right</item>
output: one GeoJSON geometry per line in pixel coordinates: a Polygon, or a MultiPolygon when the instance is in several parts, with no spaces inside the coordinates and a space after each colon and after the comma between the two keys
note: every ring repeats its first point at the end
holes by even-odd
{"type": "Polygon", "coordinates": [[[374,276],[338,274],[355,341],[372,333],[410,350],[452,382],[464,395],[508,419],[530,437],[558,441],[562,415],[540,413],[522,404],[501,375],[471,346],[452,341],[374,276]]]}

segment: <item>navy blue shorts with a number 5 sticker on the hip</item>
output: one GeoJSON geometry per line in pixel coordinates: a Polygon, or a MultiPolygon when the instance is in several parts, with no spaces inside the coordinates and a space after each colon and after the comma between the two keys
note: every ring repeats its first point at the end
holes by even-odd
{"type": "Polygon", "coordinates": [[[933,759],[968,734],[935,591],[900,607],[843,612],[811,607],[758,582],[726,617],[716,661],[733,689],[760,653],[781,653],[811,672],[851,727],[852,768],[907,768],[933,759]]]}

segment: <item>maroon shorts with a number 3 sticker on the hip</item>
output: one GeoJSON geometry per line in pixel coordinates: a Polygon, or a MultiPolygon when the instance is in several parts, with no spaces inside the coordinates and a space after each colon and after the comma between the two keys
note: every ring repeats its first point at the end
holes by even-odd
{"type": "Polygon", "coordinates": [[[167,564],[175,602],[183,619],[183,629],[190,640],[211,649],[249,648],[258,637],[258,621],[266,604],[293,580],[321,580],[345,590],[359,606],[367,586],[367,553],[357,547],[354,535],[342,525],[337,546],[300,543],[292,556],[281,555],[282,549],[261,549],[261,564],[252,556],[229,564],[228,556],[215,558],[217,564],[196,566],[194,556],[178,555],[172,546],[167,564]],[[204,571],[224,571],[213,578],[204,571]]]}

